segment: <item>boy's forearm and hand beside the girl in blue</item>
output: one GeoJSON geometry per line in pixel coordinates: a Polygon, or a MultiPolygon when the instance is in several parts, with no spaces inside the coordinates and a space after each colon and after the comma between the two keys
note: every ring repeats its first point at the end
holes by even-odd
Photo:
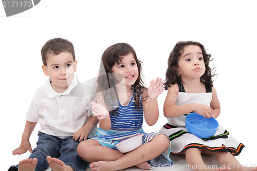
{"type": "Polygon", "coordinates": [[[85,123],[85,125],[80,128],[79,130],[77,130],[74,135],[73,135],[73,139],[75,141],[85,141],[88,137],[88,135],[90,134],[90,131],[97,125],[98,123],[98,119],[96,117],[90,117],[89,121],[87,123],[85,123]]]}

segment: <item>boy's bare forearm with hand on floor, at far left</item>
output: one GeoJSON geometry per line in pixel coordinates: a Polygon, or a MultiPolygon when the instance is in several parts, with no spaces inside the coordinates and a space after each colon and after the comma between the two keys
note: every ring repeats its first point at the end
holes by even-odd
{"type": "Polygon", "coordinates": [[[37,122],[26,121],[26,125],[25,125],[23,135],[22,135],[21,145],[20,145],[20,147],[14,149],[12,151],[13,155],[19,155],[20,156],[21,154],[26,153],[28,150],[29,150],[30,153],[32,153],[32,148],[31,148],[31,145],[30,145],[30,142],[29,142],[29,137],[30,137],[32,131],[34,130],[36,123],[37,122]]]}

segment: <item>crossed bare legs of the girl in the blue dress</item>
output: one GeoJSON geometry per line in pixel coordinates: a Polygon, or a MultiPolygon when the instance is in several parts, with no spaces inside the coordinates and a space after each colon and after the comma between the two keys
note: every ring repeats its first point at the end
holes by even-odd
{"type": "Polygon", "coordinates": [[[79,156],[91,163],[91,170],[121,170],[131,166],[150,169],[148,160],[158,157],[169,146],[165,135],[158,135],[150,142],[141,145],[129,153],[100,145],[96,140],[87,140],[78,145],[79,156]]]}

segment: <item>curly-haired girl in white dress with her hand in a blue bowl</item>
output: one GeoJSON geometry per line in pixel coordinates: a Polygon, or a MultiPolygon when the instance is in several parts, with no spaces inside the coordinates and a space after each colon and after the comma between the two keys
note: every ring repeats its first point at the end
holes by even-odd
{"type": "Polygon", "coordinates": [[[194,170],[208,170],[201,154],[215,155],[223,168],[218,170],[253,169],[240,166],[235,159],[244,145],[219,126],[215,135],[198,138],[185,127],[186,113],[192,111],[205,118],[217,118],[221,112],[216,90],[212,85],[209,67],[210,54],[198,42],[178,42],[171,51],[164,86],[168,94],[164,102],[164,116],[168,118],[160,132],[169,136],[171,153],[186,155],[194,170]],[[235,166],[235,167],[233,167],[235,166]]]}

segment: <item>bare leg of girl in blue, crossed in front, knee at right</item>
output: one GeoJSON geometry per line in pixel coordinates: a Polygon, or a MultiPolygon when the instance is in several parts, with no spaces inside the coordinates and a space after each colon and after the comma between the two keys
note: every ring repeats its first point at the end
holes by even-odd
{"type": "MultiPolygon", "coordinates": [[[[89,165],[91,170],[121,170],[158,157],[169,146],[169,139],[165,135],[158,135],[150,142],[130,151],[115,161],[99,161],[89,165]]],[[[149,169],[146,168],[146,169],[149,169]]]]}

